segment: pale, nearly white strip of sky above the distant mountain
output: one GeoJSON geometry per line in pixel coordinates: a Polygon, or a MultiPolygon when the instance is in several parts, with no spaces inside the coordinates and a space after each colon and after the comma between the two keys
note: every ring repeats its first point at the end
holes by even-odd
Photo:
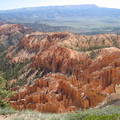
{"type": "Polygon", "coordinates": [[[49,5],[96,4],[102,7],[120,8],[120,0],[0,0],[0,10],[49,5]]]}

